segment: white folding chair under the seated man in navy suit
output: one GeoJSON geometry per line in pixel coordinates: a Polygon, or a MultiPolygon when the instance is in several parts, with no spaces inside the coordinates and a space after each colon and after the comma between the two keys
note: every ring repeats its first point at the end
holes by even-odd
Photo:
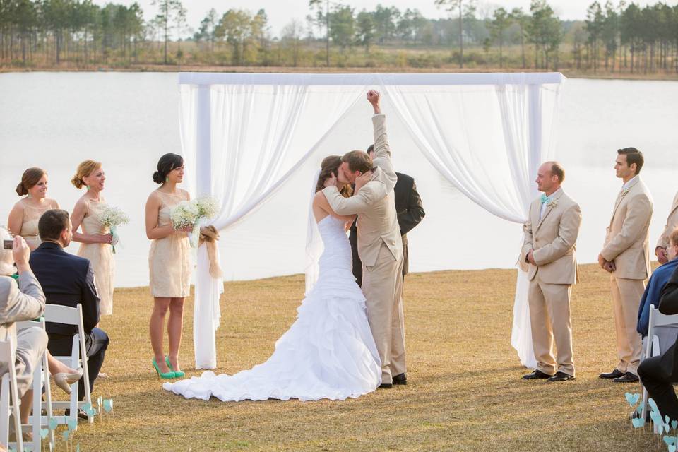
{"type": "MultiPolygon", "coordinates": [[[[78,382],[71,386],[71,398],[68,402],[53,401],[52,408],[61,410],[68,409],[68,416],[54,416],[54,419],[59,424],[68,424],[69,420],[78,422],[78,408],[85,405],[92,404],[92,394],[90,393],[90,376],[87,369],[87,347],[85,347],[85,327],[83,326],[83,307],[78,304],[78,307],[72,308],[62,306],[61,304],[46,304],[44,307],[44,321],[50,323],[62,323],[64,325],[75,325],[78,327],[78,333],[73,335],[73,346],[71,347],[71,355],[69,356],[54,356],[67,366],[78,369],[83,368],[83,379],[85,379],[85,400],[78,402],[78,382]]],[[[94,417],[88,413],[88,422],[94,422],[94,417]]]]}

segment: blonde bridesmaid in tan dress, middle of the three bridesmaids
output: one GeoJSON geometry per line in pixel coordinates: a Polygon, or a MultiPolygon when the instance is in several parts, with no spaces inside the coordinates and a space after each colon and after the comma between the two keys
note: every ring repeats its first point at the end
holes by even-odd
{"type": "Polygon", "coordinates": [[[115,262],[111,242],[112,234],[108,227],[101,225],[99,213],[105,207],[101,196],[106,176],[100,162],[85,160],[76,170],[71,184],[77,189],[87,187],[85,194],[78,199],[73,208],[73,242],[80,242],[78,256],[88,258],[94,268],[94,279],[99,292],[102,316],[113,314],[113,273],[115,262]],[[83,232],[78,232],[82,226],[83,232]]]}

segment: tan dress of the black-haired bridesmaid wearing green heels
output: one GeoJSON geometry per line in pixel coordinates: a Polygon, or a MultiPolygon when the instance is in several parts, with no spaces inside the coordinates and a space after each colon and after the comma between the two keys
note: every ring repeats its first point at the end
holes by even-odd
{"type": "MultiPolygon", "coordinates": [[[[160,211],[157,215],[157,226],[172,224],[169,211],[182,201],[188,201],[189,194],[179,191],[177,194],[160,195],[160,211]]],[[[191,245],[186,232],[177,231],[164,239],[154,239],[148,254],[150,271],[150,292],[153,297],[182,298],[191,295],[191,245]]]]}

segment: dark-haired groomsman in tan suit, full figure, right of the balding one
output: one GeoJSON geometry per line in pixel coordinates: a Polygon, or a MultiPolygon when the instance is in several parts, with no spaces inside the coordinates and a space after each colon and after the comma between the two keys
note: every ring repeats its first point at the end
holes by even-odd
{"type": "Polygon", "coordinates": [[[636,331],[638,306],[650,278],[650,218],[652,196],[638,175],[643,153],[636,148],[617,150],[614,169],[624,181],[612,210],[612,220],[598,263],[610,273],[614,325],[617,329],[619,364],[611,372],[600,374],[615,383],[638,381],[641,362],[641,336],[636,331]]]}

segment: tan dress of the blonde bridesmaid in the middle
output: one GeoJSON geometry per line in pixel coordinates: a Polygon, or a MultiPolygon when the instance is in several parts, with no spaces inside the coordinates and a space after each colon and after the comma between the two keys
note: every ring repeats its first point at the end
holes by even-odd
{"type": "MultiPolygon", "coordinates": [[[[109,234],[109,227],[102,226],[99,213],[105,206],[103,199],[95,201],[86,199],[87,212],[81,223],[85,234],[109,234]]],[[[94,282],[101,299],[99,309],[102,316],[113,314],[113,247],[107,243],[83,243],[78,249],[78,256],[89,259],[94,270],[94,282]]]]}

